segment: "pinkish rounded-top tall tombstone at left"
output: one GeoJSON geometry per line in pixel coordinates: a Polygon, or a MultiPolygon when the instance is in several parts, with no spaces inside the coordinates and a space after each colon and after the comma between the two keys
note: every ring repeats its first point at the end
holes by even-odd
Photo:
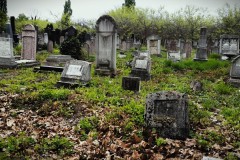
{"type": "Polygon", "coordinates": [[[37,35],[33,25],[27,24],[22,30],[22,55],[24,60],[36,60],[37,35]]]}

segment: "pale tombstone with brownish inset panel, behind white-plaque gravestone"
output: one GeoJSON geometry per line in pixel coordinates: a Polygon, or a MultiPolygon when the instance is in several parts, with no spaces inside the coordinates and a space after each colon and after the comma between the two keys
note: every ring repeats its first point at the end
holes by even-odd
{"type": "Polygon", "coordinates": [[[147,37],[147,49],[150,54],[161,55],[161,38],[158,35],[147,37]]]}

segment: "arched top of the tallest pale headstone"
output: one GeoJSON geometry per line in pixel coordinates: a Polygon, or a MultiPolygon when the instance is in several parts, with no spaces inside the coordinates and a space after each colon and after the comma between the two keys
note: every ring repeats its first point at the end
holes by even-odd
{"type": "Polygon", "coordinates": [[[116,32],[117,24],[109,15],[101,16],[96,22],[96,30],[98,32],[116,32]]]}

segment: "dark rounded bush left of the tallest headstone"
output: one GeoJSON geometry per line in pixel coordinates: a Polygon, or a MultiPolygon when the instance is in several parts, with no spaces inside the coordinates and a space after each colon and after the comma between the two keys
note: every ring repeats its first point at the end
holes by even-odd
{"type": "Polygon", "coordinates": [[[64,55],[71,55],[75,59],[83,59],[81,43],[76,37],[65,40],[60,46],[60,52],[64,55]]]}

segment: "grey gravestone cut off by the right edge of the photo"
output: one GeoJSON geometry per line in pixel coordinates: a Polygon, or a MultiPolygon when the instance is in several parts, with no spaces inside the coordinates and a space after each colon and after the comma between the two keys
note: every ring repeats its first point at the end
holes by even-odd
{"type": "Polygon", "coordinates": [[[240,87],[240,55],[232,60],[229,82],[236,87],[240,87]]]}

